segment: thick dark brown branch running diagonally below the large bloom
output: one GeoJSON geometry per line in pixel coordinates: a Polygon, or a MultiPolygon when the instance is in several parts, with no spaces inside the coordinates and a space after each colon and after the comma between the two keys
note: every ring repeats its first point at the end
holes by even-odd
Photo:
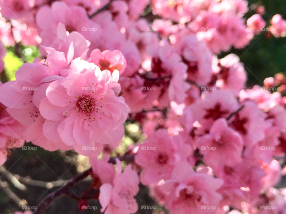
{"type": "MultiPolygon", "coordinates": [[[[120,161],[128,161],[128,162],[134,161],[134,155],[124,155],[124,156],[111,157],[108,162],[115,164],[116,163],[116,161],[115,161],[116,158],[118,158],[120,161]]],[[[70,196],[73,199],[79,200],[80,198],[77,197],[75,194],[70,193],[70,190],[71,190],[72,187],[74,187],[74,185],[77,184],[77,182],[80,182],[81,180],[83,180],[86,177],[88,177],[88,175],[90,175],[91,172],[92,172],[92,169],[90,168],[90,169],[84,171],[82,174],[75,175],[65,185],[61,186],[60,188],[58,188],[54,192],[52,192],[49,195],[47,195],[38,204],[37,210],[34,212],[34,214],[44,214],[44,213],[46,213],[46,210],[48,209],[49,205],[55,199],[57,199],[57,198],[59,198],[60,196],[63,196],[63,195],[67,195],[67,196],[70,196]]]]}

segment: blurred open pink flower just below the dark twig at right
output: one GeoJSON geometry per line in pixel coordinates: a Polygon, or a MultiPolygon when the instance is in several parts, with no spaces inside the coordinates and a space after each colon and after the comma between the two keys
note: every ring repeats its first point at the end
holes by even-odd
{"type": "Polygon", "coordinates": [[[229,128],[226,119],[217,119],[209,134],[198,138],[198,149],[209,166],[235,166],[241,161],[243,139],[239,133],[229,128]],[[231,157],[231,158],[229,158],[231,157]]]}

